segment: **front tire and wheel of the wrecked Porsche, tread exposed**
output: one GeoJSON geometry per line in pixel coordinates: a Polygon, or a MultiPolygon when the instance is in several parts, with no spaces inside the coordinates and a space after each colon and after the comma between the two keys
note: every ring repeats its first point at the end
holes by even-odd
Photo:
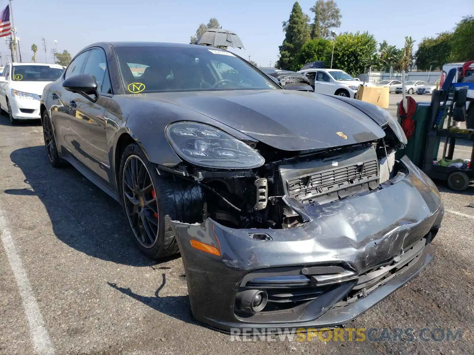
{"type": "Polygon", "coordinates": [[[120,200],[137,248],[151,259],[176,254],[178,244],[171,221],[202,222],[201,186],[158,175],[137,143],[125,148],[119,169],[120,200]],[[135,180],[131,178],[133,170],[135,180]],[[137,186],[131,186],[135,182],[137,186]]]}

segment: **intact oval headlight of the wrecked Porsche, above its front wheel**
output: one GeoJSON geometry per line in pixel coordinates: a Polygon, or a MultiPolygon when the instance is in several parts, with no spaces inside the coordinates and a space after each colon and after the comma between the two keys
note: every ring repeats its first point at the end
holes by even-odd
{"type": "Polygon", "coordinates": [[[166,127],[165,133],[183,160],[201,167],[253,169],[265,162],[255,149],[206,124],[176,122],[166,127]]]}

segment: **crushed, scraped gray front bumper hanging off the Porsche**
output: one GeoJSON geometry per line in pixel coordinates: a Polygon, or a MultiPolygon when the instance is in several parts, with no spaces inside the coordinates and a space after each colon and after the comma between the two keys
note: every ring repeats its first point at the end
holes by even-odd
{"type": "Polygon", "coordinates": [[[305,205],[311,221],[300,227],[232,229],[212,219],[173,221],[193,317],[223,332],[335,327],[408,282],[432,258],[430,242],[444,208],[433,182],[407,157],[401,164],[408,175],[378,191],[305,205]],[[221,256],[193,248],[191,240],[213,245],[221,256]],[[274,276],[288,275],[310,281],[272,284],[274,276]],[[267,292],[270,309],[242,313],[236,297],[247,289],[267,292]]]}

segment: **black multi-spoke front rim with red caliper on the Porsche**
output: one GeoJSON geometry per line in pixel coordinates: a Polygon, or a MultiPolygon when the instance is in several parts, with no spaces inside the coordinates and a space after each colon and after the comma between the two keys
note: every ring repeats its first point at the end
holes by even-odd
{"type": "Polygon", "coordinates": [[[128,156],[122,170],[122,193],[128,222],[137,241],[153,248],[159,234],[159,210],[155,187],[144,161],[128,156]]]}

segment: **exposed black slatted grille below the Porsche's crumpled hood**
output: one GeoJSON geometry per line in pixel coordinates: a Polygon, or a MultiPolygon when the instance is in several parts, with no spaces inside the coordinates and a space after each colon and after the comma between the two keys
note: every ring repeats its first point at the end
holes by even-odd
{"type": "Polygon", "coordinates": [[[377,160],[368,160],[287,180],[287,191],[291,197],[303,201],[377,179],[377,160]]]}

